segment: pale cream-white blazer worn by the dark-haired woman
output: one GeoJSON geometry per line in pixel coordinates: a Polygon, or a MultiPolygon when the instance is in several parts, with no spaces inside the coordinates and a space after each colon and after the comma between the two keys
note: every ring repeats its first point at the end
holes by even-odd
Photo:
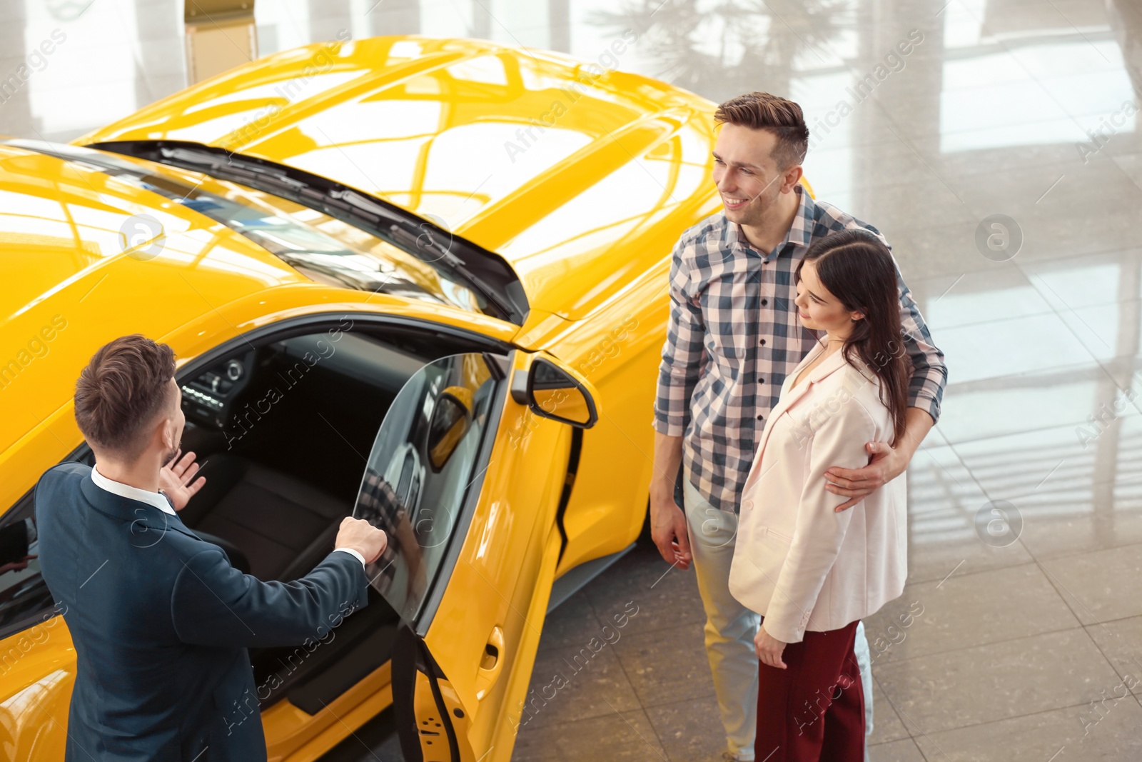
{"type": "Polygon", "coordinates": [[[818,344],[781,385],[746,479],[730,592],[765,617],[765,632],[799,643],[806,629],[844,627],[904,589],[908,569],[904,474],[846,511],[825,489],[833,467],[868,465],[864,442],[892,443],[879,379],[834,352],[793,388],[823,352],[818,344]]]}

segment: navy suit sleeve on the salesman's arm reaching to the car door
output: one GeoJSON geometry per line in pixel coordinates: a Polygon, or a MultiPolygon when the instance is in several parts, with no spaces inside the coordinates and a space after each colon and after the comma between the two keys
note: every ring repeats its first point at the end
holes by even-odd
{"type": "Polygon", "coordinates": [[[185,643],[255,648],[324,637],[367,602],[364,569],[348,553],[333,551],[300,579],[267,583],[211,547],[184,563],[170,611],[185,643]]]}

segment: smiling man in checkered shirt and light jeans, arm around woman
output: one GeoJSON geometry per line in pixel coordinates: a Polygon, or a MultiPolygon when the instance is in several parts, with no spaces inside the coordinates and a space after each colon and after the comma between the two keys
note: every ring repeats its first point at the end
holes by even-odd
{"type": "MultiPolygon", "coordinates": [[[[814,201],[799,184],[809,129],[796,103],[750,93],[723,103],[714,120],[714,182],[723,209],[683,233],[674,248],[670,319],[654,402],[651,534],[668,563],[679,569],[694,563],[729,745],[724,759],[745,762],[754,759],[758,617],[730,594],[729,573],[738,498],[756,443],[786,375],[817,343],[815,334],[797,322],[793,273],[818,238],[852,227],[884,236],[814,201]],[[679,484],[685,513],[675,499],[679,484]]],[[[827,472],[826,489],[847,498],[837,510],[902,473],[940,415],[943,353],[932,344],[903,279],[899,286],[902,345],[914,366],[907,430],[894,448],[867,443],[868,466],[827,472]]],[[[872,680],[862,626],[855,649],[871,730],[872,680]]]]}

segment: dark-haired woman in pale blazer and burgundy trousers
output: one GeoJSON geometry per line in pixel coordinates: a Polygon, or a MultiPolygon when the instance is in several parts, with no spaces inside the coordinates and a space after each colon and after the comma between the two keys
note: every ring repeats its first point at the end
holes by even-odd
{"type": "Polygon", "coordinates": [[[762,615],[755,757],[863,759],[860,619],[903,592],[904,476],[846,511],[831,466],[860,468],[864,443],[904,431],[910,362],[896,271],[871,233],[817,241],[797,266],[797,316],[819,332],[781,386],[742,491],[730,592],[762,615]]]}

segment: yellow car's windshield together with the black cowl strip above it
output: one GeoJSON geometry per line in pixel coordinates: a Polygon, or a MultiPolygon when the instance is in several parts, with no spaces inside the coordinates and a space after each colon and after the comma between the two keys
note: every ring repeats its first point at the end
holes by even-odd
{"type": "Polygon", "coordinates": [[[134,182],[250,238],[317,281],[451,304],[516,324],[528,313],[515,272],[498,255],[300,169],[195,143],[98,143],[98,151],[43,141],[2,143],[134,182]],[[348,228],[330,227],[332,219],[348,228]]]}

